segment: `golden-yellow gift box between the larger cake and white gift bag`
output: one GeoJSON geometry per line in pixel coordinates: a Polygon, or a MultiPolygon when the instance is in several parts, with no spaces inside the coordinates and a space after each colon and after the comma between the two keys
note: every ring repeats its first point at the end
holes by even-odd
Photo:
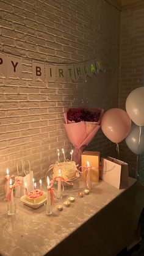
{"type": "MultiPolygon", "coordinates": [[[[92,182],[99,181],[99,161],[100,161],[100,153],[95,151],[84,151],[81,155],[81,165],[82,165],[82,172],[87,166],[87,161],[90,164],[90,180],[92,182]]],[[[82,173],[82,179],[86,180],[87,172],[82,173]]]]}

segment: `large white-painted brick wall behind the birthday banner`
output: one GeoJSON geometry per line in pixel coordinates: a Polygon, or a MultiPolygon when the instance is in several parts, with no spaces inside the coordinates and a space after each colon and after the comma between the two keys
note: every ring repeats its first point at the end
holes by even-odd
{"type": "MultiPolygon", "coordinates": [[[[0,78],[2,195],[6,167],[10,175],[16,174],[18,160],[29,159],[35,180],[38,180],[45,175],[49,165],[56,162],[57,148],[63,147],[67,157],[70,156],[71,144],[62,120],[66,108],[85,106],[106,111],[118,106],[121,13],[104,0],[0,0],[0,8],[0,51],[21,56],[24,71],[23,79],[0,78]],[[87,81],[46,83],[32,80],[32,59],[68,64],[94,57],[101,58],[106,71],[87,81]]],[[[123,14],[123,20],[126,19],[124,15],[127,13],[123,14]]],[[[134,15],[140,17],[140,10],[135,10],[134,15]]],[[[132,20],[131,13],[128,16],[132,20]]],[[[140,18],[137,26],[142,35],[140,18]]],[[[137,26],[134,24],[135,31],[137,26]]],[[[124,54],[128,46],[122,43],[124,54]]],[[[141,38],[136,40],[135,35],[135,45],[131,46],[140,60],[141,38]]],[[[140,70],[137,61],[137,75],[140,70]]],[[[134,72],[131,75],[137,81],[134,72]]],[[[123,89],[126,83],[123,76],[121,73],[121,97],[126,90],[123,89]]],[[[132,86],[135,82],[126,86],[126,93],[132,86]]],[[[117,155],[115,145],[101,130],[87,149],[99,150],[101,155],[117,155]]]]}

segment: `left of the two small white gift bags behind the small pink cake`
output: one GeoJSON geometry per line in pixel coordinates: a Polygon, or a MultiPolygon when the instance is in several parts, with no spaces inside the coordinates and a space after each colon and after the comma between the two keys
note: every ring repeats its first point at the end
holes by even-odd
{"type": "Polygon", "coordinates": [[[22,197],[24,196],[24,177],[20,176],[19,174],[23,174],[24,173],[24,169],[23,169],[23,161],[20,160],[18,161],[18,163],[16,164],[17,167],[17,176],[15,177],[15,180],[19,180],[21,182],[22,186],[16,186],[15,187],[15,197],[22,197]],[[20,164],[21,163],[21,167],[20,164]]]}

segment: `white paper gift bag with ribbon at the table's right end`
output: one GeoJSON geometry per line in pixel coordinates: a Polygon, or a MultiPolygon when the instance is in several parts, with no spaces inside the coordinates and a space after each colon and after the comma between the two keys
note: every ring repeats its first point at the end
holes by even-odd
{"type": "Polygon", "coordinates": [[[128,163],[124,163],[110,156],[101,159],[101,180],[106,181],[115,188],[121,189],[128,186],[128,163]]]}

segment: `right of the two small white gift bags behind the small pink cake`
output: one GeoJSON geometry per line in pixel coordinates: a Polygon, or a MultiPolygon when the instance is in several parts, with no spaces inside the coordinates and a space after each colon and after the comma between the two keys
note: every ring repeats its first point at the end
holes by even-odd
{"type": "Polygon", "coordinates": [[[29,160],[24,161],[24,173],[26,176],[24,177],[24,185],[27,184],[27,191],[31,192],[33,190],[32,179],[34,178],[33,170],[31,170],[31,164],[29,160]],[[28,168],[26,169],[26,163],[28,164],[28,168]]]}

